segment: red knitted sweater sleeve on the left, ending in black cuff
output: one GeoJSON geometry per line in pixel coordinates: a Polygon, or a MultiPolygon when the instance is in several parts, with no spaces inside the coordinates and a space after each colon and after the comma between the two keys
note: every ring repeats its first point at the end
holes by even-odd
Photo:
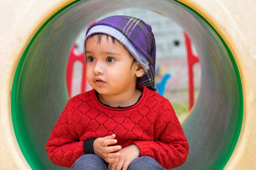
{"type": "Polygon", "coordinates": [[[49,159],[54,164],[64,167],[71,167],[81,155],[84,155],[83,141],[79,141],[74,132],[70,131],[68,115],[71,114],[71,106],[67,104],[46,145],[49,159]]]}

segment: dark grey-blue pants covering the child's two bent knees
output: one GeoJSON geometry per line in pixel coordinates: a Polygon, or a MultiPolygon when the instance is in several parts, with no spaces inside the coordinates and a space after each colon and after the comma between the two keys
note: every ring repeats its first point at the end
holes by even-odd
{"type": "MultiPolygon", "coordinates": [[[[76,162],[73,164],[71,169],[86,169],[86,170],[95,170],[95,169],[106,169],[108,170],[108,163],[105,162],[103,159],[98,157],[97,155],[93,154],[86,154],[79,159],[76,160],[76,162]]],[[[164,168],[161,167],[161,165],[152,157],[143,156],[138,157],[137,159],[134,159],[130,166],[128,167],[128,170],[163,170],[164,168]]]]}

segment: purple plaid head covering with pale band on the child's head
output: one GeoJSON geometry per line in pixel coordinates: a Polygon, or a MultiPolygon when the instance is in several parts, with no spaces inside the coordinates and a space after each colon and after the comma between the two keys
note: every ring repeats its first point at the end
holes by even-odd
{"type": "Polygon", "coordinates": [[[138,18],[123,15],[104,18],[88,27],[84,48],[86,48],[85,42],[88,36],[95,33],[108,34],[120,41],[145,70],[145,74],[137,84],[156,91],[154,85],[156,42],[150,25],[138,18]]]}

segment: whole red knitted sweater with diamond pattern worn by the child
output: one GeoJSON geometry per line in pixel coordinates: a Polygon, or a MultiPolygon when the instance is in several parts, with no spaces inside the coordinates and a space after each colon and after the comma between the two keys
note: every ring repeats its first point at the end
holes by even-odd
{"type": "Polygon", "coordinates": [[[84,140],[115,133],[116,145],[135,144],[140,156],[148,155],[166,169],[183,164],[189,145],[172,105],[145,86],[140,88],[140,101],[129,108],[105,106],[95,90],[72,97],[46,145],[52,162],[71,167],[84,155],[84,140]]]}

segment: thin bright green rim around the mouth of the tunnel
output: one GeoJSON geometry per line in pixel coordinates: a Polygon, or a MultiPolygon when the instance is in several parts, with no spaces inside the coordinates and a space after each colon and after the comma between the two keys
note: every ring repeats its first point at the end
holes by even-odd
{"type": "MultiPolygon", "coordinates": [[[[76,0],[73,1],[72,3],[67,4],[66,6],[64,6],[63,8],[61,8],[59,11],[57,11],[56,13],[54,13],[54,15],[52,15],[39,29],[38,31],[36,31],[35,35],[33,36],[33,38],[29,41],[28,46],[26,46],[26,49],[24,50],[24,53],[22,53],[22,56],[20,58],[19,64],[17,66],[17,69],[15,71],[15,76],[13,78],[13,85],[12,85],[12,98],[11,98],[11,109],[12,109],[12,122],[13,122],[13,129],[15,132],[15,136],[17,139],[17,142],[19,144],[20,150],[22,152],[22,154],[24,155],[24,158],[26,159],[26,161],[28,162],[29,166],[32,169],[37,169],[38,166],[36,166],[35,162],[33,162],[33,160],[31,159],[31,155],[28,152],[28,148],[26,147],[24,140],[22,139],[22,134],[20,132],[20,127],[22,126],[22,122],[19,121],[18,115],[17,115],[17,93],[18,93],[18,85],[19,85],[19,78],[20,78],[20,71],[21,68],[23,66],[23,62],[24,59],[29,51],[29,48],[31,47],[31,45],[33,44],[33,42],[35,41],[36,37],[38,36],[38,34],[40,34],[40,32],[44,29],[44,27],[49,24],[49,22],[51,22],[51,20],[53,18],[55,18],[57,15],[59,15],[62,11],[66,10],[67,8],[69,8],[70,6],[79,3],[81,1],[84,0],[76,0]]],[[[172,1],[172,0],[169,0],[172,1]]],[[[237,85],[238,85],[238,90],[239,90],[239,115],[237,118],[237,126],[236,126],[236,133],[234,134],[234,139],[232,140],[231,146],[229,148],[229,151],[227,153],[227,156],[225,157],[225,160],[223,162],[218,162],[218,166],[220,169],[223,169],[225,167],[225,165],[227,164],[228,160],[230,159],[232,153],[234,152],[234,149],[236,147],[238,138],[239,138],[239,134],[241,132],[241,127],[242,127],[242,123],[243,123],[243,87],[242,87],[242,83],[241,83],[241,76],[239,74],[239,69],[237,67],[236,64],[236,60],[234,59],[234,56],[232,55],[231,50],[228,48],[227,43],[225,43],[224,39],[221,38],[220,34],[218,33],[218,31],[216,31],[216,29],[214,29],[214,27],[202,16],[200,15],[200,13],[198,13],[197,11],[193,10],[193,8],[191,8],[190,6],[178,1],[178,0],[173,0],[179,4],[181,4],[182,6],[184,6],[184,8],[187,8],[188,10],[192,11],[193,13],[195,13],[195,15],[197,15],[198,17],[200,17],[202,20],[204,20],[204,22],[209,25],[211,27],[211,29],[216,33],[216,35],[218,35],[218,38],[221,39],[221,43],[223,43],[223,45],[225,46],[225,49],[228,52],[228,55],[230,57],[230,60],[232,62],[232,66],[234,67],[234,71],[236,74],[236,78],[237,78],[237,85]]]]}

